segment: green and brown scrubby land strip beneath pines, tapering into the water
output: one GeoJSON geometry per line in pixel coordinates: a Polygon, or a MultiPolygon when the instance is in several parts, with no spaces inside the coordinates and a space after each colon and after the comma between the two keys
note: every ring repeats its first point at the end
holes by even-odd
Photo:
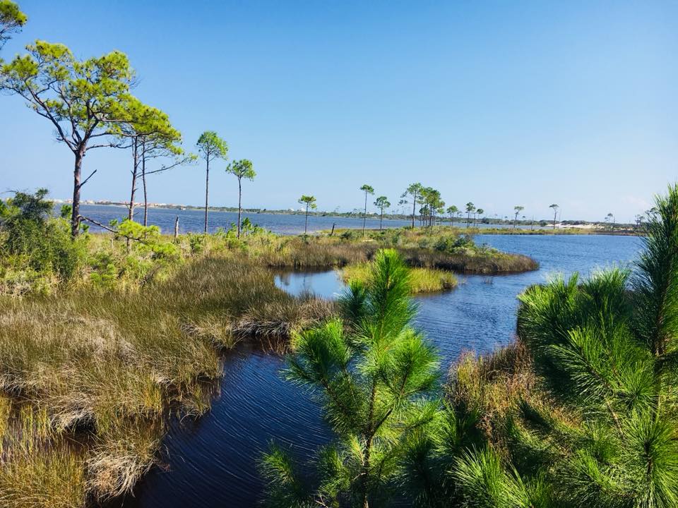
{"type": "Polygon", "coordinates": [[[338,231],[333,236],[279,236],[255,229],[240,239],[231,232],[219,232],[186,234],[175,241],[153,229],[146,236],[147,243],[132,242],[129,246],[124,238],[113,234],[89,234],[78,241],[80,261],[69,278],[53,270],[36,272],[27,259],[1,257],[0,296],[53,295],[74,289],[130,294],[171,281],[187,265],[206,258],[231,257],[263,267],[295,270],[340,268],[367,262],[381,248],[396,248],[410,267],[484,274],[537,268],[537,263],[526,256],[477,246],[472,232],[435,227],[369,231],[365,237],[355,231],[338,231]]]}

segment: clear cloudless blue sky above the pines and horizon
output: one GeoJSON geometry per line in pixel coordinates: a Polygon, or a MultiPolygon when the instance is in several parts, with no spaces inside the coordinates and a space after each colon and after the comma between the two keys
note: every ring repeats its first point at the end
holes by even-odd
{"type": "MultiPolygon", "coordinates": [[[[136,95],[194,150],[215,130],[258,176],[244,205],[396,203],[412,181],[488,214],[619,221],[678,179],[678,3],[655,1],[37,1],[5,59],[37,38],[129,55],[136,95]]],[[[0,97],[0,191],[71,195],[72,154],[0,97]]],[[[85,199],[124,200],[130,155],[95,150],[85,199]]],[[[211,203],[237,204],[218,164],[211,203]]],[[[199,205],[204,168],[153,177],[199,205]]]]}

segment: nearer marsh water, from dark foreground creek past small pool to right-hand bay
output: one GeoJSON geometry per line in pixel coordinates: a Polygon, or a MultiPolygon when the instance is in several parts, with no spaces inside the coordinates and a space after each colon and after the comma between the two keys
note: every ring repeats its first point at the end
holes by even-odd
{"type": "MultiPolygon", "coordinates": [[[[477,242],[523,253],[540,270],[494,277],[462,276],[454,291],[417,297],[417,326],[441,353],[443,368],[461,351],[491,351],[509,342],[516,327],[516,296],[553,274],[590,274],[627,264],[640,248],[629,236],[477,236],[477,242]]],[[[292,293],[312,289],[333,297],[341,290],[334,272],[286,274],[278,285],[292,293]]],[[[256,460],[269,440],[295,443],[299,457],[328,440],[309,395],[283,380],[282,359],[240,349],[225,363],[220,394],[197,422],[174,422],[165,440],[167,468],[155,468],[124,506],[254,507],[261,494],[256,460]]]]}

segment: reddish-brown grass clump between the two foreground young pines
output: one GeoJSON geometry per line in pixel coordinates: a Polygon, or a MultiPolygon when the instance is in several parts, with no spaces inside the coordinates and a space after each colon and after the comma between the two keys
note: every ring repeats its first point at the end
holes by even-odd
{"type": "MultiPolygon", "coordinates": [[[[450,368],[445,390],[456,436],[465,447],[489,454],[497,464],[512,463],[537,476],[547,473],[548,467],[535,469],[535,465],[548,463],[547,457],[559,444],[540,441],[535,431],[538,435],[544,428],[558,429],[565,442],[581,422],[578,414],[557,404],[542,388],[543,380],[535,373],[533,358],[521,339],[484,355],[463,353],[450,368]]],[[[459,453],[459,449],[453,451],[459,457],[453,476],[472,466],[473,461],[466,460],[469,456],[459,453]]],[[[468,490],[466,480],[456,478],[468,490]]],[[[485,480],[494,481],[490,476],[485,480]]]]}

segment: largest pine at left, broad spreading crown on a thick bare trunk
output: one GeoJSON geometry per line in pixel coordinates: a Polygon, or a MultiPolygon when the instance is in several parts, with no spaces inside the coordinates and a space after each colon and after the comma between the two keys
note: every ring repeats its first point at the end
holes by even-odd
{"type": "Polygon", "coordinates": [[[130,120],[137,102],[130,94],[134,74],[127,56],[117,51],[80,61],[64,44],[39,40],[27,49],[0,68],[0,89],[23,97],[73,152],[71,234],[76,236],[80,191],[87,181],[81,181],[83,157],[93,148],[114,146],[111,135],[130,120]]]}

